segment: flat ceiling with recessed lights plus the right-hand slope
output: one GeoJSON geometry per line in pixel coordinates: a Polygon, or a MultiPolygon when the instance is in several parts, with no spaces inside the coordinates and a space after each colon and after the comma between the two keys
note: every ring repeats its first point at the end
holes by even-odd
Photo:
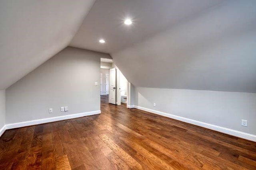
{"type": "Polygon", "coordinates": [[[138,87],[255,93],[255,6],[255,0],[97,0],[70,45],[110,53],[138,87]],[[126,18],[132,25],[123,24],[126,18]]]}

